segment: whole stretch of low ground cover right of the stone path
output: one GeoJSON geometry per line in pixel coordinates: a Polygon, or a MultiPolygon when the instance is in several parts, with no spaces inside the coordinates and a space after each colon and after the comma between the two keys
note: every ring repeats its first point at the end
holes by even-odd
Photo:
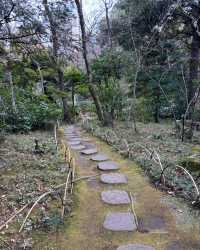
{"type": "MultiPolygon", "coordinates": [[[[165,172],[166,181],[169,184],[167,190],[191,199],[191,202],[192,199],[197,198],[197,192],[194,190],[189,175],[176,170],[176,165],[187,168],[200,189],[199,131],[195,131],[192,141],[181,142],[180,138],[176,137],[170,123],[137,123],[137,133],[134,131],[133,124],[127,124],[127,122],[118,122],[114,127],[106,128],[99,126],[96,120],[90,120],[85,122],[83,127],[94,136],[107,142],[124,157],[137,162],[154,184],[158,183],[162,171],[160,164],[152,160],[152,156],[146,153],[146,149],[151,154],[152,152],[158,153],[162,167],[169,166],[165,172]]],[[[156,156],[156,158],[158,157],[156,156]]],[[[166,187],[162,188],[166,190],[166,187]]]]}

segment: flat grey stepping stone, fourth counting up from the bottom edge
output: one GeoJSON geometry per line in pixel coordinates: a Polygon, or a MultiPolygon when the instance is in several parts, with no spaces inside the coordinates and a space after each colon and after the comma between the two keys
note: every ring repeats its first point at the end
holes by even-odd
{"type": "Polygon", "coordinates": [[[124,174],[112,173],[102,174],[100,180],[106,184],[127,184],[127,177],[124,174]]]}

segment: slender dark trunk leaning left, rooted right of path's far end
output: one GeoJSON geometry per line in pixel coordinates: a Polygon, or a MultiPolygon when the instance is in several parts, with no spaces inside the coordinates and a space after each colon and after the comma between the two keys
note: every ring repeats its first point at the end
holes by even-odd
{"type": "Polygon", "coordinates": [[[81,36],[82,36],[82,50],[83,50],[83,58],[85,62],[85,67],[86,67],[86,72],[87,72],[87,78],[88,78],[88,87],[90,94],[93,98],[96,111],[97,111],[97,116],[100,121],[104,122],[104,115],[103,115],[103,110],[101,107],[101,103],[99,100],[99,97],[96,92],[96,88],[92,83],[92,74],[91,74],[91,69],[90,69],[90,64],[88,61],[88,52],[87,52],[87,41],[86,41],[86,32],[85,32],[85,21],[84,21],[84,16],[83,16],[83,9],[82,9],[82,4],[80,0],[75,0],[76,7],[77,7],[77,12],[79,16],[79,22],[80,22],[80,28],[81,28],[81,36]]]}

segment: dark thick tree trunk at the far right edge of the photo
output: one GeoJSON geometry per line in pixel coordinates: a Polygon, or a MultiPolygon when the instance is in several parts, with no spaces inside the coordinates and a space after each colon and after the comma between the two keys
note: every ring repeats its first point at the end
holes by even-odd
{"type": "MultiPolygon", "coordinates": [[[[193,35],[191,44],[191,56],[190,56],[190,66],[189,66],[189,80],[188,80],[188,102],[190,103],[195,95],[195,80],[198,80],[198,70],[199,70],[199,46],[200,41],[196,35],[193,35]]],[[[188,118],[192,118],[192,113],[194,111],[194,103],[191,105],[188,118]]]]}

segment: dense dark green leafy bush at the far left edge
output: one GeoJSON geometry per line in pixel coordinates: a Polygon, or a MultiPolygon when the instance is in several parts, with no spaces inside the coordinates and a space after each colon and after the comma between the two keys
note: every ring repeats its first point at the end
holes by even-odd
{"type": "Polygon", "coordinates": [[[5,113],[6,130],[29,131],[40,129],[49,121],[61,116],[61,109],[56,103],[43,96],[36,96],[30,91],[16,88],[17,111],[11,105],[11,95],[7,89],[0,89],[4,105],[0,112],[5,113]]]}

